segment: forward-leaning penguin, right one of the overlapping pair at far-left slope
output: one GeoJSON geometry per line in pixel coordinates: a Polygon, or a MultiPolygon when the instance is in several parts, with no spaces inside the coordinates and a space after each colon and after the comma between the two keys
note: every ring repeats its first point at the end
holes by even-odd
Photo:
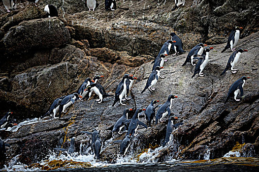
{"type": "Polygon", "coordinates": [[[73,93],[73,94],[69,94],[67,96],[65,96],[62,101],[60,102],[60,108],[59,108],[59,115],[61,116],[61,113],[66,113],[66,109],[71,106],[72,104],[75,103],[75,101],[78,99],[78,98],[82,98],[81,95],[79,95],[78,93],[73,93]]]}

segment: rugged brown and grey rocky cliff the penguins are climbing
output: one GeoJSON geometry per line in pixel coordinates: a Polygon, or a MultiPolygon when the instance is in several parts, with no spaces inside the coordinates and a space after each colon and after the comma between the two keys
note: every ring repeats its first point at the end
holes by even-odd
{"type": "MultiPolygon", "coordinates": [[[[175,11],[171,11],[174,4],[169,0],[165,3],[117,0],[117,5],[114,12],[105,11],[102,3],[95,12],[90,12],[83,1],[41,1],[35,7],[21,0],[11,13],[5,13],[1,6],[1,114],[11,110],[18,121],[39,117],[57,97],[75,92],[87,77],[104,75],[99,82],[114,93],[122,76],[131,73],[138,79],[126,107],[145,108],[152,99],[163,103],[171,93],[179,97],[173,101],[171,110],[184,125],[174,132],[174,145],[163,149],[158,160],[164,160],[167,155],[202,159],[208,149],[210,158],[217,158],[237,141],[247,143],[247,150],[254,150],[251,156],[258,156],[257,1],[187,0],[184,7],[175,11]],[[44,18],[47,3],[58,7],[59,18],[44,18]],[[230,51],[220,52],[233,26],[244,28],[238,47],[248,52],[241,55],[236,74],[227,72],[220,77],[231,55],[230,51]],[[214,47],[204,70],[205,77],[191,79],[194,68],[181,66],[188,52],[176,57],[170,55],[162,70],[166,78],[159,80],[155,93],[140,94],[151,72],[151,60],[172,31],[183,40],[185,50],[198,42],[214,47]],[[224,104],[229,86],[241,76],[251,77],[245,84],[243,100],[224,104]]],[[[69,126],[69,138],[79,141],[85,137],[80,131],[97,128],[103,141],[110,139],[113,124],[125,109],[121,105],[110,107],[113,98],[106,98],[101,104],[94,98],[76,102],[60,119],[25,125],[13,133],[1,131],[1,137],[11,138],[8,159],[21,154],[19,160],[30,164],[45,157],[63,136],[63,127],[71,116],[75,116],[75,122],[69,126]]],[[[165,127],[162,123],[140,129],[134,150],[149,143],[160,144],[165,127]]],[[[113,161],[118,148],[118,144],[108,146],[102,159],[113,161]]]]}

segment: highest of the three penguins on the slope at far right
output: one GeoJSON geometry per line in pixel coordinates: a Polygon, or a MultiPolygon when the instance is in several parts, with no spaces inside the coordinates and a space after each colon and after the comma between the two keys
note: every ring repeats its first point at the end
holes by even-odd
{"type": "Polygon", "coordinates": [[[230,50],[233,52],[235,51],[235,47],[237,45],[237,42],[239,40],[240,37],[240,29],[243,29],[242,27],[234,27],[231,32],[230,35],[227,39],[227,45],[225,47],[224,50],[222,50],[221,53],[225,52],[228,48],[230,48],[230,50]]]}

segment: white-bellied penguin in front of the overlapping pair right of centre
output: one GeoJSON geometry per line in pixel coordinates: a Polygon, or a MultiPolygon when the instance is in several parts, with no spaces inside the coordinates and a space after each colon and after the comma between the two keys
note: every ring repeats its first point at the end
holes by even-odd
{"type": "MultiPolygon", "coordinates": [[[[213,47],[210,47],[210,48],[205,48],[203,50],[203,53],[202,53],[202,57],[198,58],[198,62],[195,66],[195,69],[194,69],[194,75],[192,76],[192,78],[194,78],[194,76],[199,73],[199,76],[200,77],[204,77],[202,71],[203,69],[205,68],[205,66],[207,65],[207,63],[209,62],[209,52],[213,49],[213,47]]],[[[195,57],[196,58],[196,57],[195,57]]]]}

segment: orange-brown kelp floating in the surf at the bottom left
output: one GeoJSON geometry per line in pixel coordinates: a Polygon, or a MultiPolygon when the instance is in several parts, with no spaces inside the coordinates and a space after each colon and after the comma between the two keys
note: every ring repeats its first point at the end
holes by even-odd
{"type": "Polygon", "coordinates": [[[76,162],[72,160],[46,160],[43,165],[39,163],[34,163],[31,164],[30,166],[26,167],[29,169],[32,168],[38,168],[40,170],[55,170],[59,168],[63,169],[70,169],[70,168],[88,168],[91,167],[92,165],[89,162],[76,162]]]}

